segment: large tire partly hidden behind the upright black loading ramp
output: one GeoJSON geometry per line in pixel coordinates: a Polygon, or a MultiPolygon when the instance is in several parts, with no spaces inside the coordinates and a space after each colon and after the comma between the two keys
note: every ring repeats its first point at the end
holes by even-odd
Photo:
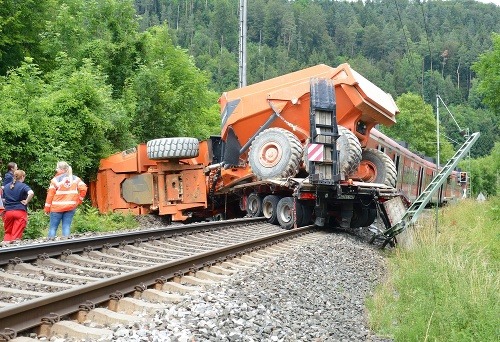
{"type": "MultiPolygon", "coordinates": [[[[339,138],[337,139],[337,151],[339,151],[339,171],[349,176],[358,169],[361,161],[361,144],[358,138],[344,126],[337,126],[339,138]]],[[[309,161],[307,160],[307,149],[304,153],[306,171],[309,172],[309,161]]]]}

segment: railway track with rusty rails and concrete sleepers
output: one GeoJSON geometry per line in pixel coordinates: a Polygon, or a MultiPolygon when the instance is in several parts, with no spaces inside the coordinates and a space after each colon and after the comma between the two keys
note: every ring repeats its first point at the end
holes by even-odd
{"type": "MultiPolygon", "coordinates": [[[[71,335],[92,317],[109,325],[120,320],[110,311],[131,313],[140,305],[134,298],[179,299],[189,286],[224,279],[264,257],[262,248],[312,231],[284,231],[253,218],[3,248],[0,340],[71,335]]],[[[81,334],[92,339],[109,331],[93,333],[81,334]]]]}

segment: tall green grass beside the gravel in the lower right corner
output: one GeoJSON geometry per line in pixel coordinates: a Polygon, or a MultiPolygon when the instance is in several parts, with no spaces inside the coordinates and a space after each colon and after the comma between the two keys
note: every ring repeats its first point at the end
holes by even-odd
{"type": "Polygon", "coordinates": [[[388,255],[385,283],[369,300],[372,328],[396,341],[500,339],[500,198],[465,200],[414,230],[388,255]]]}

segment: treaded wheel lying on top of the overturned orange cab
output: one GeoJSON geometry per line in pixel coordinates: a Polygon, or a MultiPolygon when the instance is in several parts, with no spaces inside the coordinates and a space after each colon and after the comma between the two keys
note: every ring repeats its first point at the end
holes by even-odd
{"type": "Polygon", "coordinates": [[[160,138],[146,144],[149,159],[194,158],[200,153],[196,138],[160,138]]]}

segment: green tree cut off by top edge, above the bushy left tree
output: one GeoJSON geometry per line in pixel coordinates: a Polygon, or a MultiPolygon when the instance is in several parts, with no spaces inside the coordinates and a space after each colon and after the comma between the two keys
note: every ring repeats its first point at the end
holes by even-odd
{"type": "Polygon", "coordinates": [[[90,59],[108,76],[118,97],[135,67],[137,29],[132,0],[59,0],[41,45],[53,68],[61,52],[80,63],[90,59]]]}

